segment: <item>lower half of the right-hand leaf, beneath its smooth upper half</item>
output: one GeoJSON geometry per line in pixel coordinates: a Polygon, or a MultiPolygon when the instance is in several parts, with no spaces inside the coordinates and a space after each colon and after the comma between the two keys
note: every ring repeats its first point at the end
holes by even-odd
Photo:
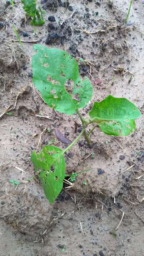
{"type": "Polygon", "coordinates": [[[136,128],[135,120],[109,121],[98,123],[103,133],[108,135],[128,135],[136,128]]]}

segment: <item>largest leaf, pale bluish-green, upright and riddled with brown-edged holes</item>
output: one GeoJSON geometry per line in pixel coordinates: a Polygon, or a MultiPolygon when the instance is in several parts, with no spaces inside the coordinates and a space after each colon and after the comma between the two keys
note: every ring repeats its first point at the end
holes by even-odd
{"type": "Polygon", "coordinates": [[[73,114],[92,97],[90,80],[80,78],[78,63],[66,51],[35,44],[32,57],[33,82],[42,98],[59,112],[73,114]]]}

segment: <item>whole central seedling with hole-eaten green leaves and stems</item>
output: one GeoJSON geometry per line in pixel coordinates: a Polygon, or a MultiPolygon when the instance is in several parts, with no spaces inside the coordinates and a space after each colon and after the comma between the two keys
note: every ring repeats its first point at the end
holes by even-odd
{"type": "Polygon", "coordinates": [[[89,118],[82,117],[79,109],[85,107],[91,100],[93,86],[86,76],[84,79],[80,77],[76,59],[66,51],[44,45],[35,44],[34,50],[36,53],[32,57],[33,82],[42,98],[51,108],[59,112],[76,113],[82,123],[81,133],[67,148],[61,149],[49,144],[39,153],[32,151],[31,161],[35,171],[44,187],[46,197],[50,203],[53,203],[63,187],[66,168],[64,153],[82,135],[89,144],[89,136],[97,126],[108,135],[128,135],[135,130],[135,118],[140,117],[141,113],[128,99],[108,95],[102,101],[94,102],[89,118]],[[94,125],[87,133],[86,127],[90,123],[94,125]]]}

